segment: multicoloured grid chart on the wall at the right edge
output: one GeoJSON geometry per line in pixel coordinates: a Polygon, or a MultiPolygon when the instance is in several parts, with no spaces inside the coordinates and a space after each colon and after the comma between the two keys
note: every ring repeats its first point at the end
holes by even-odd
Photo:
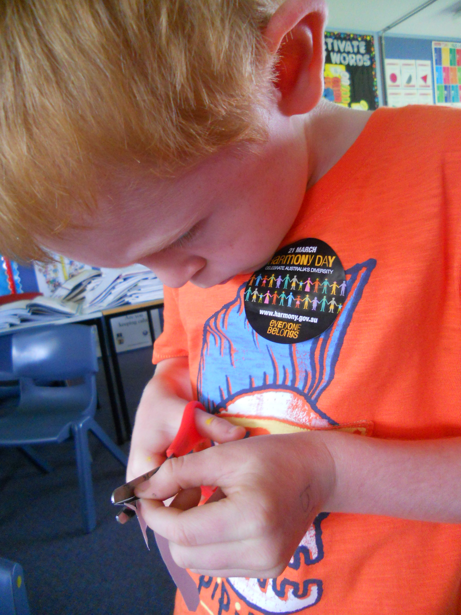
{"type": "Polygon", "coordinates": [[[436,105],[461,106],[461,43],[432,42],[436,105]]]}

